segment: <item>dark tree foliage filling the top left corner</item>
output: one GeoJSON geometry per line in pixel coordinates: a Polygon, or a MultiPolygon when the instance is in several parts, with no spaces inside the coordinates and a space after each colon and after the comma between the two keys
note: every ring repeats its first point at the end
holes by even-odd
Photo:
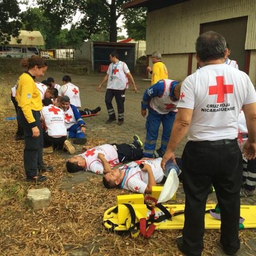
{"type": "Polygon", "coordinates": [[[19,36],[21,28],[19,13],[17,0],[0,0],[0,44],[8,44],[11,36],[19,36]]]}

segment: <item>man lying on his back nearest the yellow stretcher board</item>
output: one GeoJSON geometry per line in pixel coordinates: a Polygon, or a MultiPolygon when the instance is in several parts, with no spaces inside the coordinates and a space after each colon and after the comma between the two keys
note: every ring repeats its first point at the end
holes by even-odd
{"type": "Polygon", "coordinates": [[[102,178],[106,188],[124,188],[141,194],[150,194],[152,186],[163,181],[162,158],[131,162],[111,170],[102,178]],[[139,165],[144,167],[140,169],[139,165]]]}

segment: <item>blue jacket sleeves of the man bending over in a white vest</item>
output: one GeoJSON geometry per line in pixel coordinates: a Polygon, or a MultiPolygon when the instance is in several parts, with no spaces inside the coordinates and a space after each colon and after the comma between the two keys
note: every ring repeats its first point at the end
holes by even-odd
{"type": "MultiPolygon", "coordinates": [[[[175,85],[177,85],[179,82],[178,81],[173,81],[171,87],[174,89],[175,85]]],[[[172,94],[174,90],[172,91],[172,94]]],[[[143,99],[141,101],[141,109],[145,110],[147,109],[148,103],[151,98],[158,97],[163,95],[164,93],[164,81],[159,80],[156,84],[150,86],[144,93],[143,99]]]]}

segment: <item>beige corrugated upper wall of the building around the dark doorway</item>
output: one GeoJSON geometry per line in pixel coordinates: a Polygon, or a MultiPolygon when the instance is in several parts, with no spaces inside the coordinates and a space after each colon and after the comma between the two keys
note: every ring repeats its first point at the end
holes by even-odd
{"type": "Polygon", "coordinates": [[[147,54],[195,52],[201,23],[248,16],[245,50],[256,49],[255,0],[190,0],[149,12],[147,54]]]}

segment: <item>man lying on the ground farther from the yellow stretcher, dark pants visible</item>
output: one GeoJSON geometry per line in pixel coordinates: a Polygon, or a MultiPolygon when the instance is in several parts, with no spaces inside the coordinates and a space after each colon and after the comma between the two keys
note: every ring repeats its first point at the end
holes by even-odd
{"type": "Polygon", "coordinates": [[[68,159],[66,164],[68,172],[91,171],[97,174],[105,174],[111,171],[115,165],[139,160],[142,157],[142,142],[137,135],[134,141],[127,145],[105,144],[98,147],[85,146],[85,153],[68,159]]]}

